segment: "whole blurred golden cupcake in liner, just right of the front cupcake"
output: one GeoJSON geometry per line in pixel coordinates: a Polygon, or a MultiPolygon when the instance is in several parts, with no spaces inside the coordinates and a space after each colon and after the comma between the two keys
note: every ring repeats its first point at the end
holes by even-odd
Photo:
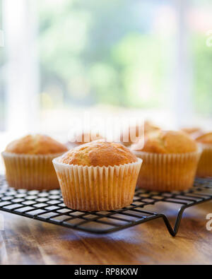
{"type": "Polygon", "coordinates": [[[131,146],[143,159],[138,185],[151,191],[183,191],[194,183],[200,151],[186,133],[160,131],[146,138],[144,145],[131,146]]]}

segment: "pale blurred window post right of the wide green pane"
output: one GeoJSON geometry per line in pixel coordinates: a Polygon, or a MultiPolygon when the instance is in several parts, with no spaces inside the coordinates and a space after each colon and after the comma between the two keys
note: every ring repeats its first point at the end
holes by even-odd
{"type": "Polygon", "coordinates": [[[192,59],[189,54],[188,30],[189,0],[175,0],[177,36],[172,82],[172,111],[175,126],[192,125],[192,59]]]}

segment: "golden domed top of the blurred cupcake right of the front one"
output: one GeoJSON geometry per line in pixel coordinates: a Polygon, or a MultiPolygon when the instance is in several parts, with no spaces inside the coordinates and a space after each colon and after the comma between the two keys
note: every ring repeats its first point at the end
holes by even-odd
{"type": "Polygon", "coordinates": [[[189,153],[198,150],[196,142],[181,131],[158,131],[131,146],[132,150],[148,153],[189,153]]]}

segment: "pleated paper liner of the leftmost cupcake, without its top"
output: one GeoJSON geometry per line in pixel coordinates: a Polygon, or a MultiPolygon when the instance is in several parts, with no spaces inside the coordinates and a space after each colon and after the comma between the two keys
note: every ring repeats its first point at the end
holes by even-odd
{"type": "Polygon", "coordinates": [[[8,185],[15,189],[59,189],[52,160],[62,155],[21,155],[2,153],[8,185]]]}

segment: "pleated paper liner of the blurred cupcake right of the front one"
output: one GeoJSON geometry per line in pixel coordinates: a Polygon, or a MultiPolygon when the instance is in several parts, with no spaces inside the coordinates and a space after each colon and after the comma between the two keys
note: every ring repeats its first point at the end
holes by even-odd
{"type": "Polygon", "coordinates": [[[134,151],[143,159],[138,186],[151,191],[183,191],[194,184],[201,151],[183,154],[157,154],[134,151]]]}

